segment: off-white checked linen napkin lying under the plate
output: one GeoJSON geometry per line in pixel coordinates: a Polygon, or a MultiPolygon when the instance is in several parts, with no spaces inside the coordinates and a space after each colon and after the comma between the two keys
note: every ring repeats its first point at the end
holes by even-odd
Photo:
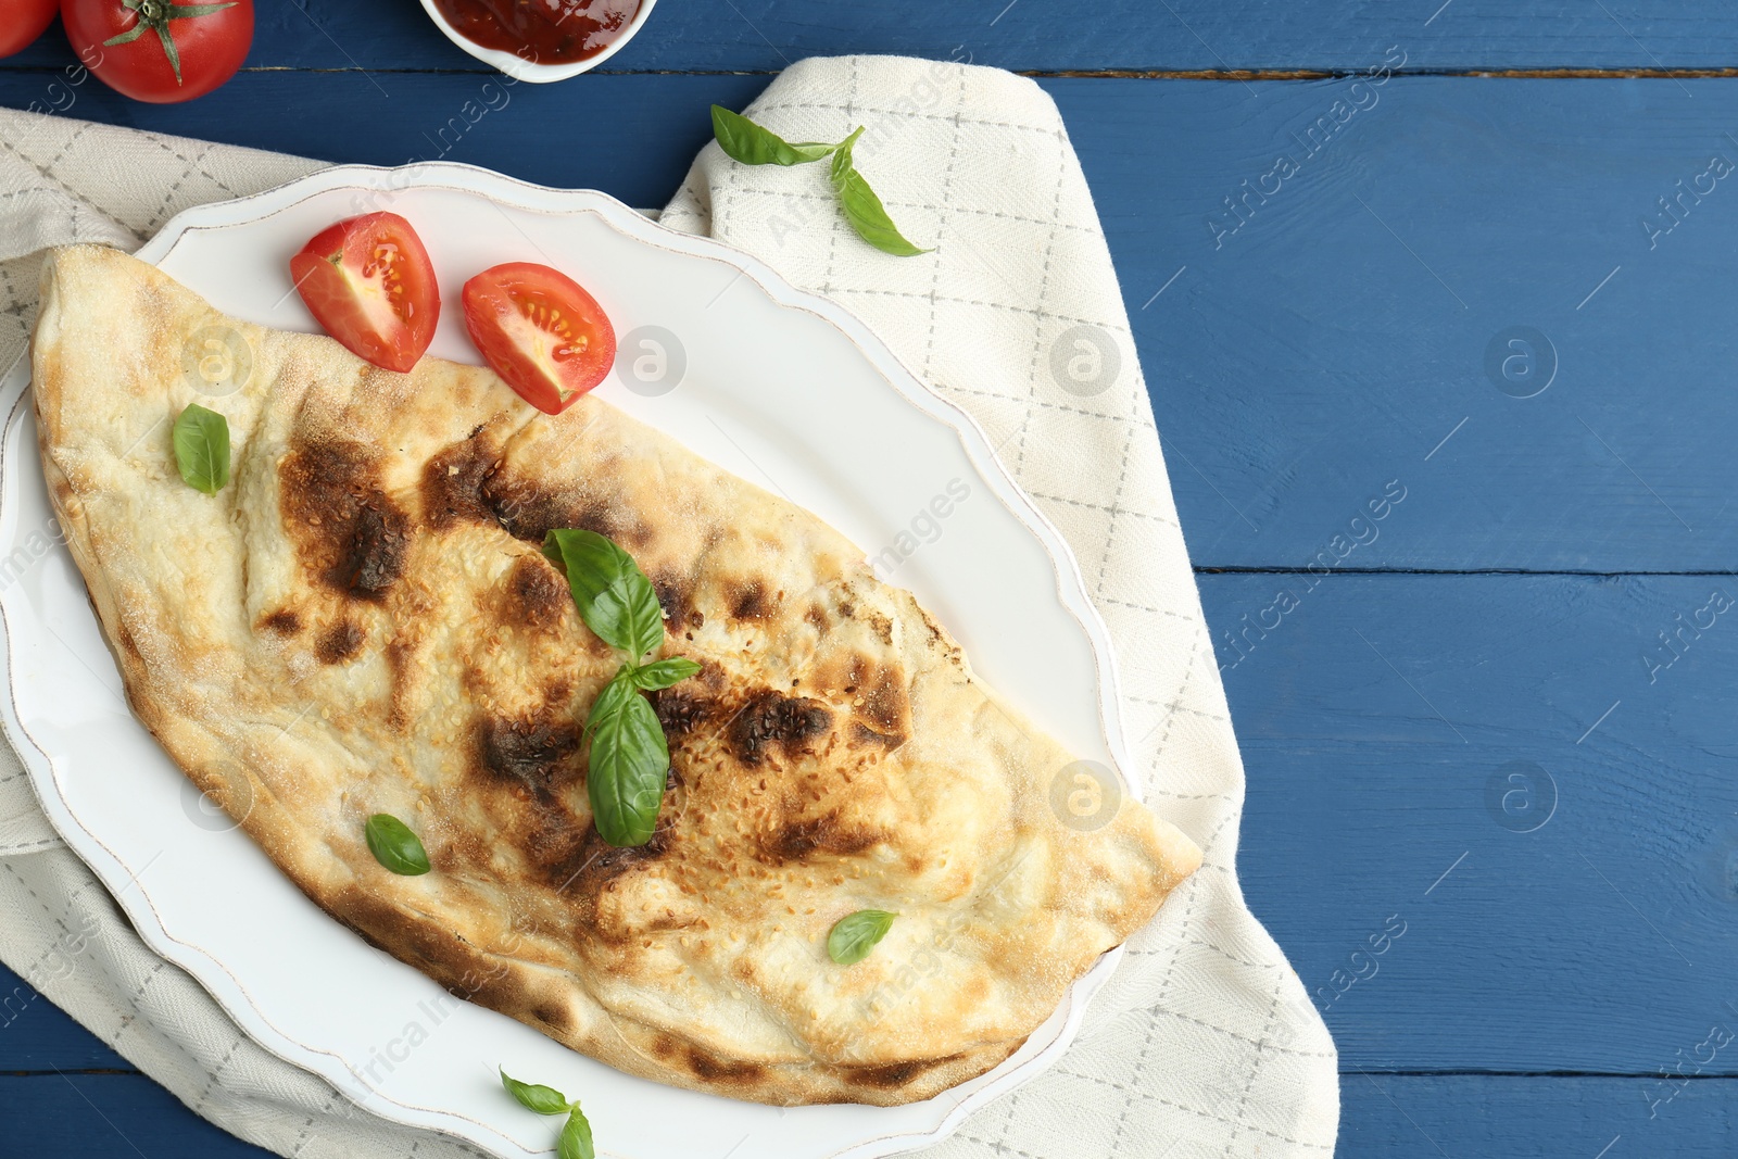
{"type": "MultiPolygon", "coordinates": [[[[1243,765],[1111,254],[1055,104],[998,70],[845,57],[796,64],[747,113],[796,141],[866,125],[859,167],[900,229],[935,252],[885,257],[841,222],[822,167],[747,169],[716,144],[662,221],[833,297],[977,417],[1067,537],[1111,626],[1131,773],[1206,850],[1130,942],[1067,1055],[932,1154],[1331,1154],[1337,1055],[1237,888],[1243,765]]],[[[313,169],[0,111],[0,367],[24,349],[42,247],[136,248],[177,210],[313,169]]],[[[351,1107],[240,1034],[141,944],[3,745],[0,959],[198,1114],[282,1156],[478,1154],[351,1107]]]]}

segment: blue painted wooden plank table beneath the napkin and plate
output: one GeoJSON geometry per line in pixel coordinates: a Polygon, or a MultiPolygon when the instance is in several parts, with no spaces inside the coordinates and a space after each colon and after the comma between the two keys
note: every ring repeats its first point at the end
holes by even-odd
{"type": "MultiPolygon", "coordinates": [[[[1340,1154],[1731,1159],[1738,16],[1519,7],[664,0],[607,71],[436,144],[483,73],[412,0],[259,0],[212,97],[70,89],[54,31],[0,104],[660,205],[707,104],[789,61],[1038,76],[1152,384],[1244,890],[1340,1044],[1340,1154]]],[[[0,1156],[262,1154],[7,994],[0,1156]]]]}

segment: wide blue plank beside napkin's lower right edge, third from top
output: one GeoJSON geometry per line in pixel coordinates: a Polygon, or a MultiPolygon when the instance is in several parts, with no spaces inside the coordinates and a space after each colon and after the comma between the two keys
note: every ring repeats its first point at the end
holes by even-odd
{"type": "Polygon", "coordinates": [[[1239,879],[1342,1062],[1653,1074],[1738,1030],[1738,582],[1310,579],[1201,591],[1239,879]]]}

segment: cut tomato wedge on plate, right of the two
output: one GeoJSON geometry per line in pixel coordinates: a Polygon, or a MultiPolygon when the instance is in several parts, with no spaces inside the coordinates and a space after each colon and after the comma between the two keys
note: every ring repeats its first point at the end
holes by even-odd
{"type": "Polygon", "coordinates": [[[464,327],[490,370],[537,410],[558,415],[615,365],[615,327],[565,273],[492,266],[464,283],[464,327]]]}

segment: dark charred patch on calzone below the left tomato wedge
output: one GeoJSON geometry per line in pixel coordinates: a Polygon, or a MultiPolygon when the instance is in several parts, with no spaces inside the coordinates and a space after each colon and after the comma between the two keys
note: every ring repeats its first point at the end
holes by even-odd
{"type": "Polygon", "coordinates": [[[283,521],[302,561],[335,591],[379,599],[405,570],[410,528],[358,443],[301,443],[278,467],[283,521]]]}

